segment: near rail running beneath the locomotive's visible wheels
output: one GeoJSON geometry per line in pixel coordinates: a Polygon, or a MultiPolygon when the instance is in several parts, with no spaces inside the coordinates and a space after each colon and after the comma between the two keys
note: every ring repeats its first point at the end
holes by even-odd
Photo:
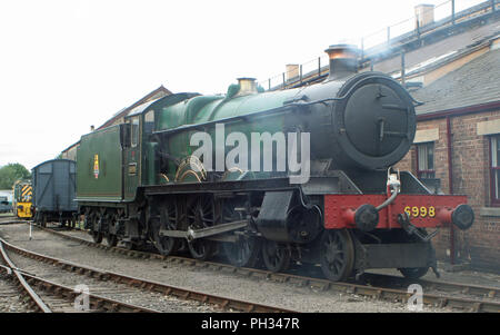
{"type": "MultiPolygon", "coordinates": [[[[309,286],[313,289],[319,290],[333,290],[333,292],[341,292],[341,293],[349,293],[349,294],[358,294],[363,296],[369,296],[378,299],[386,299],[386,300],[399,300],[399,302],[408,302],[408,299],[412,296],[412,293],[408,293],[407,290],[401,289],[394,289],[394,288],[388,288],[388,287],[379,287],[379,286],[368,286],[368,285],[361,285],[361,284],[354,284],[354,283],[344,283],[344,282],[330,282],[328,279],[321,279],[321,278],[313,278],[313,277],[306,277],[306,276],[298,276],[292,274],[286,274],[286,273],[272,273],[269,270],[262,270],[262,269],[256,269],[256,268],[243,268],[243,267],[236,267],[232,265],[223,264],[223,263],[214,263],[214,262],[202,262],[192,258],[187,257],[180,257],[180,256],[162,256],[159,254],[152,254],[152,253],[146,253],[146,252],[137,252],[137,250],[128,250],[119,247],[109,247],[104,246],[102,244],[96,244],[93,242],[89,242],[76,236],[70,236],[67,234],[63,234],[61,231],[56,231],[50,228],[42,228],[39,227],[46,231],[49,231],[51,234],[61,236],[67,239],[71,239],[74,242],[79,242],[81,244],[97,247],[100,249],[118,253],[121,255],[127,255],[130,257],[136,258],[152,258],[152,259],[163,259],[172,263],[184,263],[189,265],[196,265],[199,267],[207,267],[212,268],[217,270],[224,270],[228,273],[236,273],[241,274],[246,276],[253,276],[253,277],[261,277],[271,279],[279,283],[292,283],[299,286],[309,286]]],[[[398,277],[393,277],[398,278],[398,277]]],[[[441,283],[439,282],[431,282],[426,280],[434,285],[434,288],[438,287],[441,283]]],[[[424,283],[424,282],[422,282],[424,283]]],[[[454,285],[462,285],[452,283],[449,287],[454,285]]],[[[429,286],[430,287],[430,286],[429,286]]],[[[480,286],[474,285],[463,285],[461,292],[467,294],[474,292],[476,288],[480,286]]],[[[482,287],[483,292],[488,290],[488,296],[492,297],[497,295],[497,288],[494,287],[482,287]],[[493,294],[494,292],[494,294],[493,294]]],[[[470,298],[461,298],[461,297],[454,297],[449,295],[437,295],[437,294],[423,294],[423,303],[426,305],[431,305],[436,307],[452,307],[452,308],[461,308],[470,312],[493,312],[493,313],[500,313],[500,303],[498,302],[491,302],[491,300],[483,300],[483,299],[470,299],[470,298]]]]}

